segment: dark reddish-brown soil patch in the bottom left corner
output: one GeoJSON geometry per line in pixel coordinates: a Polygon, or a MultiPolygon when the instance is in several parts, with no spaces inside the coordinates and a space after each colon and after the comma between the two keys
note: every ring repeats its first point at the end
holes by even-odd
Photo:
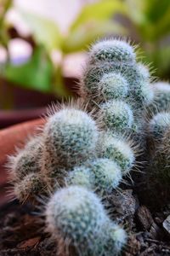
{"type": "Polygon", "coordinates": [[[42,231],[30,206],[8,204],[0,213],[0,256],[56,256],[56,245],[42,231]]]}

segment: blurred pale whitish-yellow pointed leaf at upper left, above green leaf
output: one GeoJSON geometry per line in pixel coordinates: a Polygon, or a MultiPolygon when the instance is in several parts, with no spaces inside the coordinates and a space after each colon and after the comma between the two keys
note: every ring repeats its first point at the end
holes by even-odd
{"type": "Polygon", "coordinates": [[[49,51],[52,49],[59,49],[61,34],[59,32],[59,27],[54,21],[27,13],[23,10],[20,10],[19,13],[22,18],[26,20],[26,24],[30,27],[38,44],[43,44],[49,51]]]}

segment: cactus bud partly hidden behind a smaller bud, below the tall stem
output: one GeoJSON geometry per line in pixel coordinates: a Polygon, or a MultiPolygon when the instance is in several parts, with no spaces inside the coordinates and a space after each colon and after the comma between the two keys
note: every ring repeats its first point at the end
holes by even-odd
{"type": "Polygon", "coordinates": [[[135,163],[135,152],[131,143],[125,139],[106,132],[99,142],[99,156],[116,161],[121,167],[122,175],[130,172],[135,163]]]}

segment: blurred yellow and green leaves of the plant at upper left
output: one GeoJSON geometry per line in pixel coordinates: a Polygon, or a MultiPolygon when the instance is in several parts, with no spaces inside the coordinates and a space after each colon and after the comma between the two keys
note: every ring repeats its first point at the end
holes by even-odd
{"type": "MultiPolygon", "coordinates": [[[[10,7],[7,2],[11,3],[7,0],[3,0],[2,3],[3,7],[5,6],[2,18],[3,27],[8,27],[5,24],[5,13],[10,7]]],[[[100,0],[97,3],[86,4],[71,24],[66,35],[59,31],[59,27],[52,20],[28,13],[26,10],[15,9],[15,11],[29,26],[35,45],[33,54],[26,63],[14,65],[7,61],[2,76],[22,87],[52,92],[56,96],[70,95],[63,82],[62,63],[65,55],[86,49],[97,38],[113,33],[117,35],[125,33],[125,28],[121,24],[111,20],[115,14],[125,13],[124,5],[119,0],[100,0]],[[54,66],[51,59],[52,51],[55,49],[59,50],[63,57],[58,67],[54,66]]],[[[5,44],[7,51],[9,40],[8,36],[5,44]]],[[[2,37],[0,44],[3,44],[2,37]]]]}

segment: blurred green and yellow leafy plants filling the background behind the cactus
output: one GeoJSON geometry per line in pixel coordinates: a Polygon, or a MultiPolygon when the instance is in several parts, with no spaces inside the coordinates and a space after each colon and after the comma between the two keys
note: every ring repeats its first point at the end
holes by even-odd
{"type": "MultiPolygon", "coordinates": [[[[51,9],[58,16],[59,9],[54,10],[50,6],[51,1],[45,1],[49,11],[51,9]]],[[[13,86],[16,85],[57,98],[73,96],[74,86],[71,82],[67,86],[65,77],[77,80],[78,71],[74,62],[78,54],[84,60],[83,50],[89,44],[111,35],[126,36],[132,38],[135,44],[139,43],[144,60],[151,62],[156,75],[161,79],[170,78],[169,0],[77,0],[81,8],[65,31],[50,17],[20,7],[16,2],[0,0],[0,47],[5,53],[0,68],[0,108],[15,107],[13,86]],[[20,23],[29,28],[28,34],[20,32],[16,22],[8,19],[11,9],[20,16],[20,23]],[[29,44],[30,55],[25,58],[11,56],[11,42],[16,38],[29,44]],[[71,63],[68,62],[69,56],[71,63]],[[68,67],[74,69],[73,73],[68,72],[68,67]]],[[[65,8],[72,9],[69,1],[65,0],[65,8]]],[[[65,9],[61,15],[64,22],[67,19],[65,9]]]]}

